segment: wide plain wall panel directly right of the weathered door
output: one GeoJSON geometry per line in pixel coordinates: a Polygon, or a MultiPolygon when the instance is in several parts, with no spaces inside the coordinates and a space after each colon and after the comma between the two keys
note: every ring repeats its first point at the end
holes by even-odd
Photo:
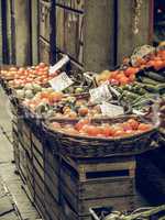
{"type": "Polygon", "coordinates": [[[85,1],[85,70],[101,72],[102,69],[109,69],[114,65],[113,40],[114,1],[85,1]]]}

